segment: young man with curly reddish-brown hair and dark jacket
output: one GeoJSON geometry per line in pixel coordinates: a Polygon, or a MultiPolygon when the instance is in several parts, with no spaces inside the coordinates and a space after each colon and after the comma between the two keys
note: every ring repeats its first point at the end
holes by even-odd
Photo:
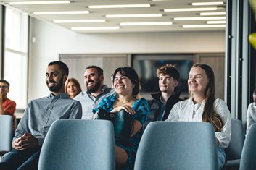
{"type": "Polygon", "coordinates": [[[180,78],[180,73],[176,69],[176,65],[165,64],[157,69],[157,77],[159,77],[160,92],[152,94],[152,100],[149,101],[151,113],[145,123],[145,127],[149,122],[164,121],[168,118],[170,110],[178,101],[182,101],[179,96],[181,92],[177,92],[176,87],[180,78]]]}

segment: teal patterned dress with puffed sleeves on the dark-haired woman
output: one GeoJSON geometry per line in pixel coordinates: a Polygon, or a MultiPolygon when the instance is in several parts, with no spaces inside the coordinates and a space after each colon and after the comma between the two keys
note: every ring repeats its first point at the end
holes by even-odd
{"type": "MultiPolygon", "coordinates": [[[[106,111],[112,111],[114,109],[113,105],[115,103],[115,100],[117,99],[117,96],[117,94],[114,94],[110,95],[107,98],[103,98],[102,101],[99,103],[99,106],[93,110],[94,114],[99,110],[99,108],[102,108],[106,111]]],[[[131,119],[141,122],[143,126],[150,114],[149,103],[146,101],[145,98],[140,98],[133,103],[133,110],[136,112],[136,114],[131,115],[131,119]]],[[[126,162],[125,169],[133,169],[142,133],[143,127],[139,130],[139,132],[137,132],[135,135],[133,135],[133,137],[130,138],[127,144],[118,142],[115,143],[115,145],[123,148],[128,154],[128,161],[126,162]]]]}

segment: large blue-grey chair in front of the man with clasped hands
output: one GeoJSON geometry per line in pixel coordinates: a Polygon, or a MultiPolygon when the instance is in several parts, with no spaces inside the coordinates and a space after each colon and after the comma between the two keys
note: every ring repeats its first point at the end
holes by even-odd
{"type": "Polygon", "coordinates": [[[115,169],[112,122],[57,120],[51,125],[44,140],[38,169],[115,169]]]}

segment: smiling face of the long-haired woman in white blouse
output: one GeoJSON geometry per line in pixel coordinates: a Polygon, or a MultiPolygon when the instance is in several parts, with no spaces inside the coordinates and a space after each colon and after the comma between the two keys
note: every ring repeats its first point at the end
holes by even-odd
{"type": "Polygon", "coordinates": [[[204,69],[200,67],[192,67],[189,72],[189,91],[193,94],[205,95],[205,89],[209,78],[204,69]]]}

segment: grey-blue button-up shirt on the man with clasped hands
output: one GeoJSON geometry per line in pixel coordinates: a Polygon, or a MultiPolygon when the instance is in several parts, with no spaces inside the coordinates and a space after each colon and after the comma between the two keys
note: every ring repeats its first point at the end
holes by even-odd
{"type": "Polygon", "coordinates": [[[30,101],[20,120],[13,140],[22,136],[25,132],[38,139],[39,145],[44,143],[44,138],[57,119],[80,119],[82,106],[79,101],[70,99],[66,93],[54,96],[38,98],[30,101]]]}

